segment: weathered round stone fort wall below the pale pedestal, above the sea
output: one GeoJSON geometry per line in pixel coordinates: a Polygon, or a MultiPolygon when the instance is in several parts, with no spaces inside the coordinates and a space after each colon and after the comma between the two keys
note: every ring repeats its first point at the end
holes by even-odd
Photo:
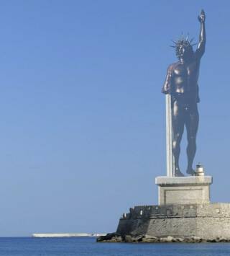
{"type": "Polygon", "coordinates": [[[180,242],[175,238],[189,242],[219,242],[220,238],[229,241],[230,204],[135,206],[120,219],[116,232],[121,236],[149,236],[144,238],[146,242],[150,237],[169,236],[174,238],[172,242],[180,242]]]}

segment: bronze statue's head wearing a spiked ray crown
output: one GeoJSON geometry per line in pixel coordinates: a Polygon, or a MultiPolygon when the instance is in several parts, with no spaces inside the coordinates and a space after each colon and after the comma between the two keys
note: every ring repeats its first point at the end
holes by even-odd
{"type": "Polygon", "coordinates": [[[192,41],[193,39],[188,40],[188,36],[186,37],[186,39],[184,39],[182,36],[182,38],[177,42],[172,41],[175,44],[172,47],[175,48],[175,54],[179,59],[182,58],[186,61],[190,58],[193,58],[193,45],[195,44],[191,44],[192,41]]]}

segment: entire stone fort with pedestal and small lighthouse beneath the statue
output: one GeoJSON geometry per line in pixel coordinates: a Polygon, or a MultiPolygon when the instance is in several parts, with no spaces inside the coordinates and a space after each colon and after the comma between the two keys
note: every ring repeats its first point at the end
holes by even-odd
{"type": "Polygon", "coordinates": [[[159,204],[130,208],[114,236],[120,242],[230,242],[230,203],[211,203],[212,177],[201,165],[196,174],[201,176],[156,177],[159,204]]]}

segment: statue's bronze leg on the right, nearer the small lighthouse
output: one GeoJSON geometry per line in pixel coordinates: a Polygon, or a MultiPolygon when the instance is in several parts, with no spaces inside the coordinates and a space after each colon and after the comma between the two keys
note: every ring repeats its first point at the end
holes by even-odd
{"type": "Polygon", "coordinates": [[[199,123],[199,114],[197,104],[193,107],[189,107],[188,112],[186,113],[185,118],[185,126],[187,130],[187,138],[188,138],[188,146],[187,146],[187,156],[188,156],[188,168],[187,173],[189,175],[194,175],[195,172],[193,170],[193,159],[195,157],[196,151],[196,133],[198,131],[198,123],[199,123]]]}

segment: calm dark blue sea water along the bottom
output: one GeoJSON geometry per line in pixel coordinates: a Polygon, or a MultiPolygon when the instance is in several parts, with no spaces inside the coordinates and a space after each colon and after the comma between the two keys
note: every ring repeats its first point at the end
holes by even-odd
{"type": "Polygon", "coordinates": [[[94,238],[0,238],[0,255],[7,256],[158,256],[230,255],[230,243],[114,244],[94,238]]]}

